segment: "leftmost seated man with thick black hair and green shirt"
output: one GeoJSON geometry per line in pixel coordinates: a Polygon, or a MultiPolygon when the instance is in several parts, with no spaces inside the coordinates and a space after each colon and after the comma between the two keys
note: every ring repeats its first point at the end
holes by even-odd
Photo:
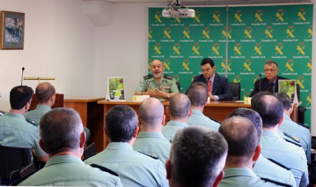
{"type": "Polygon", "coordinates": [[[32,96],[33,89],[28,86],[16,86],[11,89],[11,109],[0,116],[0,145],[29,148],[34,150],[40,161],[46,162],[48,155],[40,148],[39,127],[24,116],[30,108],[32,96]]]}

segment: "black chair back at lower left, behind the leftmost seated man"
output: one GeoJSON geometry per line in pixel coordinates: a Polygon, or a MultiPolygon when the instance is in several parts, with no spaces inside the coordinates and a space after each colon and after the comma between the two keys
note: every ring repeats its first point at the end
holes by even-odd
{"type": "Polygon", "coordinates": [[[6,181],[8,173],[20,170],[31,164],[31,152],[27,148],[0,146],[0,177],[6,181]]]}

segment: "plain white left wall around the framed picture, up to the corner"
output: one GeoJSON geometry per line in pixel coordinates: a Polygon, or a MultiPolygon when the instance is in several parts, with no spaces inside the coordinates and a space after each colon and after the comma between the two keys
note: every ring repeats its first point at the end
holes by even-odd
{"type": "MultiPolygon", "coordinates": [[[[23,50],[0,50],[0,109],[24,76],[54,76],[58,93],[95,95],[95,27],[83,0],[0,0],[0,10],[25,13],[23,50]]],[[[34,90],[38,81],[23,80],[34,90]]]]}

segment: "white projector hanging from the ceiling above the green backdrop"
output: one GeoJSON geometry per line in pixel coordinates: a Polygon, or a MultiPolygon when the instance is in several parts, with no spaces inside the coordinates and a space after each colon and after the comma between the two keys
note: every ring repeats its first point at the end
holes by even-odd
{"type": "Polygon", "coordinates": [[[167,7],[162,10],[162,17],[165,18],[194,18],[196,12],[187,7],[167,7]]]}

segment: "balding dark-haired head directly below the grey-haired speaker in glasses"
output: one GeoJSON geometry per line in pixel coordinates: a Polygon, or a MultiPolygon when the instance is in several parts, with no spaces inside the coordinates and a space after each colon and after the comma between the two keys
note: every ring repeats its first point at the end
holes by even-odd
{"type": "Polygon", "coordinates": [[[265,128],[275,127],[283,116],[283,104],[273,95],[264,95],[256,99],[252,108],[261,116],[265,128]]]}

